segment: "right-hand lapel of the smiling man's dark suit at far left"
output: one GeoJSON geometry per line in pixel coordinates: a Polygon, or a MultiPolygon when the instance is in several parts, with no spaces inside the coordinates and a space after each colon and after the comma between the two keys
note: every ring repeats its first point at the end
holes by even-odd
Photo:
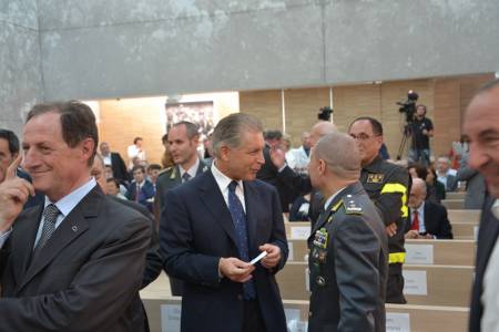
{"type": "MultiPolygon", "coordinates": [[[[62,224],[55,229],[39,256],[31,261],[22,282],[17,289],[18,292],[69,243],[89,229],[89,221],[86,219],[98,216],[99,206],[104,196],[100,188],[95,187],[74,207],[74,209],[64,218],[62,224]]],[[[32,248],[33,247],[30,247],[30,251],[32,251],[32,248]]],[[[27,249],[24,248],[24,250],[27,249]]]]}

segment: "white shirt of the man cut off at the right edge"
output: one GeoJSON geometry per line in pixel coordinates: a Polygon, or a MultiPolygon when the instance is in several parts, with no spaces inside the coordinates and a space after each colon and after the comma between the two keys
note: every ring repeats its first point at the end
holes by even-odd
{"type": "MultiPolygon", "coordinates": [[[[499,219],[499,199],[492,205],[492,214],[499,219]]],[[[499,240],[496,240],[483,276],[483,292],[481,303],[483,313],[481,315],[482,332],[499,332],[499,240]]]]}

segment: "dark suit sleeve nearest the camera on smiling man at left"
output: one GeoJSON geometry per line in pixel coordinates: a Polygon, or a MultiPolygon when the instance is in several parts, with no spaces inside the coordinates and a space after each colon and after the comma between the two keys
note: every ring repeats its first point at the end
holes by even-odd
{"type": "Polygon", "coordinates": [[[0,331],[105,330],[125,314],[136,297],[133,290],[141,284],[150,237],[143,219],[126,220],[79,267],[67,289],[0,299],[0,311],[9,318],[2,320],[0,331]]]}

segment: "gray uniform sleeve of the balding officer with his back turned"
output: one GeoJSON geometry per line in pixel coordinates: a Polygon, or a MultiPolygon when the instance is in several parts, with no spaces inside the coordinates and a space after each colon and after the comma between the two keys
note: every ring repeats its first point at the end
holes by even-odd
{"type": "Polygon", "coordinates": [[[379,293],[380,242],[357,216],[339,222],[333,239],[335,273],[339,290],[338,331],[375,331],[379,293]]]}

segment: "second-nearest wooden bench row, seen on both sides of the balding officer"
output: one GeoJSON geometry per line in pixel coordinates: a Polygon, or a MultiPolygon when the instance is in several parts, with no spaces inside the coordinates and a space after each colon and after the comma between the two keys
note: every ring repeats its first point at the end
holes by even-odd
{"type": "MultiPolygon", "coordinates": [[[[308,300],[307,269],[306,262],[287,262],[277,273],[283,299],[308,300]]],[[[404,266],[404,292],[409,304],[466,307],[470,299],[472,274],[471,266],[407,264],[404,266]]]]}

